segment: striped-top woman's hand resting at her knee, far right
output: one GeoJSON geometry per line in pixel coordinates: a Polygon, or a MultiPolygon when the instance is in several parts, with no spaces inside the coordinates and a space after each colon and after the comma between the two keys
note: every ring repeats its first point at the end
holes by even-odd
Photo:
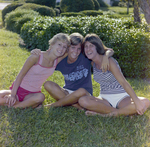
{"type": "Polygon", "coordinates": [[[143,113],[146,111],[146,106],[142,101],[140,101],[140,99],[136,100],[135,107],[139,115],[143,115],[143,113]]]}

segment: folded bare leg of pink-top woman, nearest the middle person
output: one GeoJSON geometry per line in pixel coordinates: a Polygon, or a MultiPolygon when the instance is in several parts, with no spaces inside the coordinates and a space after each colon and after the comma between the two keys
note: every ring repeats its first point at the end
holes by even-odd
{"type": "Polygon", "coordinates": [[[43,93],[32,93],[27,95],[22,102],[16,102],[14,108],[35,108],[45,100],[43,93]]]}

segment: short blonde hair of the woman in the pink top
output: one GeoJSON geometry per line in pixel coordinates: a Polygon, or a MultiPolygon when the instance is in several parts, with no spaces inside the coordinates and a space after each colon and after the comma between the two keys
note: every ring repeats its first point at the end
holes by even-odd
{"type": "Polygon", "coordinates": [[[57,41],[66,42],[68,47],[71,44],[69,35],[65,33],[58,33],[54,35],[53,38],[49,40],[49,46],[55,44],[57,41]]]}

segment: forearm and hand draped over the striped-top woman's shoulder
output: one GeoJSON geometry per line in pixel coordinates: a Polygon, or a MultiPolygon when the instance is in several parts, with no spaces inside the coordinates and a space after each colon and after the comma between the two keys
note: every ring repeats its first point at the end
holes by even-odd
{"type": "Polygon", "coordinates": [[[103,72],[106,72],[109,70],[109,57],[111,57],[114,54],[114,50],[111,48],[107,48],[105,55],[103,56],[103,60],[101,63],[101,69],[103,72]]]}

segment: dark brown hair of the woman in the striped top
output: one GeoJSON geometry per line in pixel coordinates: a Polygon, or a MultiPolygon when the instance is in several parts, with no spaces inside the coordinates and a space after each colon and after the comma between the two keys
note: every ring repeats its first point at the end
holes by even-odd
{"type": "Polygon", "coordinates": [[[96,34],[87,34],[84,38],[83,46],[85,42],[88,41],[96,46],[97,53],[100,55],[104,55],[106,51],[106,46],[103,44],[102,40],[96,34]]]}

